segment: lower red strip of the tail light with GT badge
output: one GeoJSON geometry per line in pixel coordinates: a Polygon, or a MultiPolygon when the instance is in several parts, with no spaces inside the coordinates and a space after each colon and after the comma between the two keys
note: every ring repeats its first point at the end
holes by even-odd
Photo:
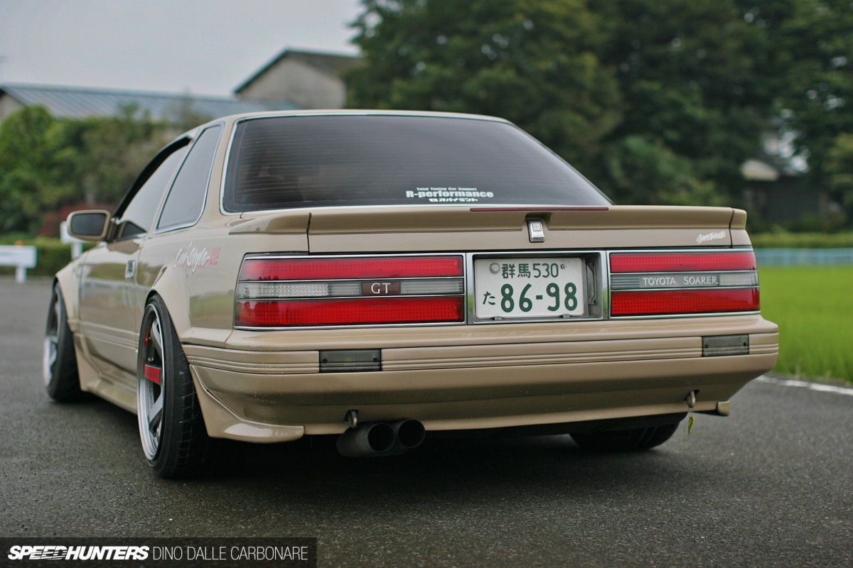
{"type": "Polygon", "coordinates": [[[292,325],[425,324],[461,322],[461,297],[368,298],[364,300],[237,301],[238,327],[292,325]]]}

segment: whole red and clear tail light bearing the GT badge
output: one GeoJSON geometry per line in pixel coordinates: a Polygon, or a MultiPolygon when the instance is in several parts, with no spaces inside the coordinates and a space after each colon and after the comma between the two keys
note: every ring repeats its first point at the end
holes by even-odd
{"type": "Polygon", "coordinates": [[[249,257],[235,327],[462,322],[463,267],[456,255],[249,257]]]}

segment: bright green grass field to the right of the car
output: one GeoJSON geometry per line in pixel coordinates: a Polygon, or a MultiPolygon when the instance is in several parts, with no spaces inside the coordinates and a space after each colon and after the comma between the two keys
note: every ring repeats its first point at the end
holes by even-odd
{"type": "Polygon", "coordinates": [[[759,270],[761,313],[779,324],[774,372],[853,382],[853,266],[759,270]]]}

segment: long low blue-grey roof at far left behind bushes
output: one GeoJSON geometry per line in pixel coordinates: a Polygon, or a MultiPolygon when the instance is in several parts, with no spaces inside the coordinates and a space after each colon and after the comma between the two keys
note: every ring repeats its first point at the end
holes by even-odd
{"type": "Polygon", "coordinates": [[[113,116],[124,106],[136,106],[154,120],[177,118],[189,104],[191,112],[210,118],[242,112],[295,110],[299,106],[285,100],[240,100],[231,97],[174,95],[145,91],[87,89],[5,83],[0,95],[9,95],[25,106],[44,106],[56,118],[113,116]]]}

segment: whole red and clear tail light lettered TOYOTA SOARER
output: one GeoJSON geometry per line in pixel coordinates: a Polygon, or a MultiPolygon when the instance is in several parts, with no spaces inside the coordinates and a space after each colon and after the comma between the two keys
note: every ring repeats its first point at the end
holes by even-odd
{"type": "Polygon", "coordinates": [[[614,317],[757,312],[751,250],[610,255],[614,317]]]}

